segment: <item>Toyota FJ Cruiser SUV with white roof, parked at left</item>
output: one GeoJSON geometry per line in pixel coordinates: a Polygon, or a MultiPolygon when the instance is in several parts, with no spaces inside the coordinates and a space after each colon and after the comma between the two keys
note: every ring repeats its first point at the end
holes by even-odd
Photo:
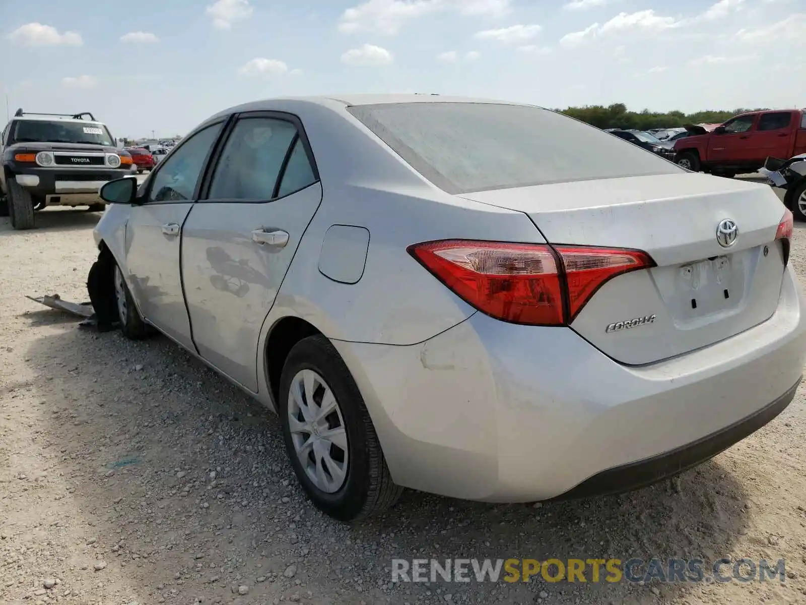
{"type": "Polygon", "coordinates": [[[115,146],[89,112],[33,114],[19,109],[0,139],[0,215],[15,229],[34,227],[34,211],[89,206],[102,211],[98,190],[131,174],[131,156],[115,146]]]}

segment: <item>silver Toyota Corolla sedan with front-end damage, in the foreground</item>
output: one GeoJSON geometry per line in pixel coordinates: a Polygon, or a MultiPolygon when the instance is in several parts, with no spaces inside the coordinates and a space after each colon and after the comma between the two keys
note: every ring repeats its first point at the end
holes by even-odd
{"type": "Polygon", "coordinates": [[[123,333],[156,328],[276,411],[336,519],[403,487],[644,486],[767,424],[800,382],[792,217],[770,188],[536,106],[247,103],[102,195],[123,333]]]}

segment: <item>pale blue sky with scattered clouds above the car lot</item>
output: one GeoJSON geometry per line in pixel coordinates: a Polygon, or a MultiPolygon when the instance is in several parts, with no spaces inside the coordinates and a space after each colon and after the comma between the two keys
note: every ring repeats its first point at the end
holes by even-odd
{"type": "Polygon", "coordinates": [[[806,0],[0,2],[10,111],[92,111],[115,136],[345,92],[806,106],[806,0]]]}

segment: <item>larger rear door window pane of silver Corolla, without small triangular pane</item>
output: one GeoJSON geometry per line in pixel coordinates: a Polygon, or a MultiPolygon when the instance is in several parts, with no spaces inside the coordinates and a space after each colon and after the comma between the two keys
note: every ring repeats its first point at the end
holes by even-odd
{"type": "Polygon", "coordinates": [[[240,119],[226,141],[208,198],[255,201],[274,198],[277,177],[296,138],[297,127],[285,120],[240,119]]]}

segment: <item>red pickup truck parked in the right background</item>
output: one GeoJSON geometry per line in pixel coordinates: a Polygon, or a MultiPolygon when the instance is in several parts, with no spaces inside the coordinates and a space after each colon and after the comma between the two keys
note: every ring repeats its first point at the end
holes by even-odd
{"type": "Polygon", "coordinates": [[[675,162],[683,168],[723,177],[752,173],[767,157],[788,160],[806,153],[806,110],[752,111],[675,141],[675,162]]]}

